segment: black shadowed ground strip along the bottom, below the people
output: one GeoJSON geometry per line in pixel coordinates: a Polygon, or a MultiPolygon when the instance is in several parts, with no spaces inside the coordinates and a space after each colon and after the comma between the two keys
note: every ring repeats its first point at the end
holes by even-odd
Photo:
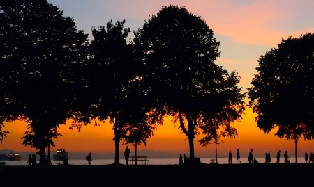
{"type": "Polygon", "coordinates": [[[314,186],[314,164],[1,166],[0,183],[31,186],[314,186]],[[63,186],[63,185],[61,185],[63,186]]]}

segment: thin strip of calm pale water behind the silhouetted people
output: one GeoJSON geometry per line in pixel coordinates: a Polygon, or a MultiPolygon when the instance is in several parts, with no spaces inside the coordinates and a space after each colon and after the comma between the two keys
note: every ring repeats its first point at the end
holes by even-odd
{"type": "MultiPolygon", "coordinates": [[[[211,163],[211,159],[214,159],[214,163],[216,163],[215,158],[200,158],[201,163],[211,163]]],[[[256,158],[258,162],[264,163],[265,158],[256,158]]],[[[247,158],[241,158],[240,161],[242,163],[248,163],[247,158]]],[[[295,163],[295,158],[290,158],[291,163],[295,163]]],[[[298,163],[305,163],[305,160],[303,157],[298,157],[298,163]]],[[[22,161],[1,161],[5,162],[6,165],[27,165],[27,160],[22,161]]],[[[38,161],[37,161],[38,162],[38,161]]],[[[62,161],[52,161],[52,165],[58,165],[59,163],[62,164],[62,161]]],[[[107,165],[114,163],[114,159],[94,159],[91,161],[91,165],[107,165]]],[[[126,161],[124,159],[120,159],[119,163],[125,164],[126,161]]],[[[219,164],[227,164],[228,159],[227,158],[218,158],[219,164]]],[[[276,163],[276,158],[271,158],[271,163],[276,163]]],[[[281,158],[281,163],[283,163],[283,158],[281,158]]],[[[78,159],[78,160],[69,160],[69,165],[87,165],[87,161],[84,159],[78,159]]],[[[137,165],[142,164],[142,161],[137,161],[137,165]]],[[[179,164],[179,158],[149,158],[149,164],[150,165],[175,165],[179,164]]],[[[232,158],[232,164],[236,164],[236,158],[232,158]]]]}

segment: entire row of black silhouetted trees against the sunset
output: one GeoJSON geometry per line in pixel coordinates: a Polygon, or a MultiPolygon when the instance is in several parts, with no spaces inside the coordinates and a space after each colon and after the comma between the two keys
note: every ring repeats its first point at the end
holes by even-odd
{"type": "MultiPolygon", "coordinates": [[[[179,122],[191,160],[200,133],[204,146],[236,138],[231,124],[244,115],[246,93],[236,71],[215,64],[220,42],[204,19],[185,7],[163,6],[133,39],[125,22],[93,26],[89,41],[45,0],[1,1],[0,140],[10,133],[1,131],[3,122],[27,122],[23,144],[38,149],[44,164],[45,149],[62,136],[60,125],[73,119],[70,129],[80,131],[109,120],[118,164],[119,144],[133,145],[136,156],[165,116],[179,122]]],[[[258,127],[265,133],[279,127],[277,136],[296,145],[314,134],[313,38],[288,38],[278,45],[285,49],[261,56],[260,74],[248,88],[258,127]],[[299,99],[297,108],[291,98],[299,99]]]]}

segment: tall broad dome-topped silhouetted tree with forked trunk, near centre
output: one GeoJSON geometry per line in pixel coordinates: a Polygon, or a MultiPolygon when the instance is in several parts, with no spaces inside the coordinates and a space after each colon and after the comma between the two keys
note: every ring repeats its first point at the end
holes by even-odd
{"type": "Polygon", "coordinates": [[[207,120],[239,120],[245,109],[237,74],[214,63],[220,43],[213,35],[204,19],[171,5],[163,6],[135,32],[147,97],[179,121],[192,159],[194,138],[200,127],[209,125],[207,120]]]}

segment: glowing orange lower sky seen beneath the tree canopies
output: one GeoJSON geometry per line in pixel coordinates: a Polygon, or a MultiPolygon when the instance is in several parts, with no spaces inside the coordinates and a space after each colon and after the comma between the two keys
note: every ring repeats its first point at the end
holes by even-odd
{"type": "MultiPolygon", "coordinates": [[[[275,131],[271,131],[269,134],[264,134],[257,128],[254,122],[253,113],[251,109],[246,110],[244,120],[241,122],[235,122],[232,126],[238,129],[239,136],[237,138],[220,138],[224,143],[217,145],[218,156],[227,156],[229,150],[236,152],[239,148],[242,152],[242,157],[246,157],[249,149],[253,149],[255,156],[264,156],[264,152],[270,151],[272,154],[276,154],[278,149],[288,150],[290,157],[294,156],[294,143],[274,136],[275,131]],[[245,155],[245,156],[244,156],[245,155]]],[[[61,148],[63,146],[70,152],[114,152],[114,141],[112,138],[113,131],[111,124],[105,122],[101,124],[101,127],[94,127],[93,124],[89,124],[83,127],[81,132],[68,129],[70,122],[67,125],[61,126],[60,133],[63,134],[58,140],[54,140],[56,147],[51,147],[51,150],[61,148]]],[[[147,140],[147,146],[144,144],[137,147],[138,150],[150,149],[154,151],[163,152],[178,152],[188,153],[188,141],[185,140],[186,136],[181,133],[177,128],[178,125],[170,122],[170,117],[165,119],[165,124],[159,126],[154,132],[154,137],[147,140]]],[[[10,135],[8,138],[0,143],[0,149],[13,149],[19,152],[34,152],[35,149],[29,146],[22,145],[22,136],[26,129],[24,122],[12,122],[6,123],[6,127],[3,131],[9,130],[10,135]]],[[[210,144],[203,147],[198,142],[200,137],[195,139],[195,156],[200,157],[214,157],[215,145],[210,144]]],[[[314,142],[308,140],[300,140],[298,143],[298,156],[303,156],[304,152],[314,150],[314,142]]],[[[120,144],[120,151],[123,150],[125,145],[120,144]]],[[[133,149],[133,147],[130,147],[133,149]]]]}

